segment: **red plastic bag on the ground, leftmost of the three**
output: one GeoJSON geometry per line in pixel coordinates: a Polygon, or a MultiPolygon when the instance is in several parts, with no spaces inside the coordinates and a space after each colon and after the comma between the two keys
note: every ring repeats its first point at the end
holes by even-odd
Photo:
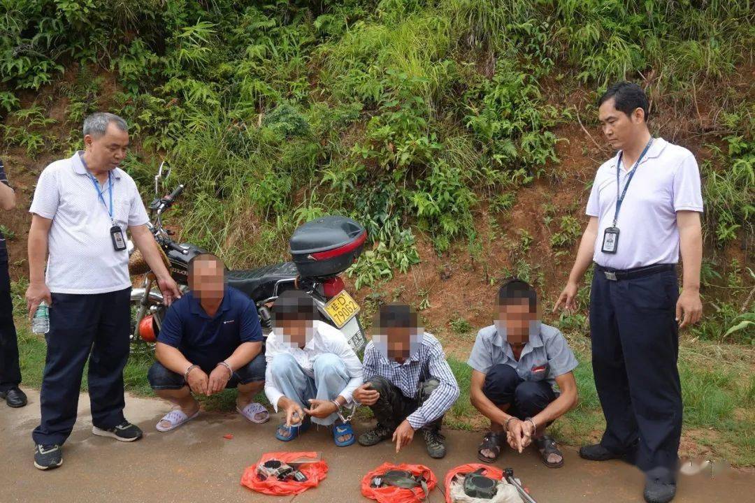
{"type": "Polygon", "coordinates": [[[299,471],[307,476],[307,480],[304,480],[304,482],[278,480],[272,477],[260,480],[260,477],[257,476],[257,465],[270,461],[270,459],[277,459],[280,462],[288,464],[304,458],[317,459],[318,456],[317,452],[266,452],[262,455],[260,461],[254,463],[254,465],[251,465],[244,471],[241,477],[241,485],[248,487],[252,491],[274,496],[299,494],[310,489],[310,487],[317,487],[320,480],[325,478],[328,473],[328,465],[325,461],[321,459],[320,461],[301,465],[299,471]]]}

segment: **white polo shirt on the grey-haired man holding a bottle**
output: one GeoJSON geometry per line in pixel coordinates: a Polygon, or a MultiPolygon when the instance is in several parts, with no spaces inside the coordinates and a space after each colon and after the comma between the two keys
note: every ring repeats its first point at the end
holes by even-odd
{"type": "MultiPolygon", "coordinates": [[[[112,170],[112,216],[125,233],[149,217],[136,183],[112,170]]],[[[109,206],[108,182],[100,186],[109,206]]],[[[106,293],[131,287],[128,251],[112,247],[112,222],[79,152],[55,161],[39,176],[30,213],[52,220],[45,281],[53,293],[106,293]]]]}

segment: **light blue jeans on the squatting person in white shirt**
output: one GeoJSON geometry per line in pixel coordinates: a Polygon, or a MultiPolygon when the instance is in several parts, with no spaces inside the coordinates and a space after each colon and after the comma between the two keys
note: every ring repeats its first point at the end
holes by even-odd
{"type": "MultiPolygon", "coordinates": [[[[270,362],[270,372],[276,388],[302,409],[310,407],[310,398],[334,400],[351,379],[344,360],[331,353],[316,357],[313,370],[314,379],[307,376],[296,359],[288,353],[276,354],[270,362]]],[[[312,422],[316,425],[332,425],[337,418],[338,415],[333,413],[323,419],[312,418],[312,422]]]]}

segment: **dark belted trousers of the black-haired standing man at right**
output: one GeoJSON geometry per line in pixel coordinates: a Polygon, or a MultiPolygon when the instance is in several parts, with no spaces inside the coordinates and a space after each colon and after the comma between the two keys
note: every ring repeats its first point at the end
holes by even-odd
{"type": "Polygon", "coordinates": [[[636,452],[638,468],[669,478],[682,434],[678,296],[673,270],[619,281],[595,271],[590,292],[593,371],[606,416],[600,443],[636,452]]]}

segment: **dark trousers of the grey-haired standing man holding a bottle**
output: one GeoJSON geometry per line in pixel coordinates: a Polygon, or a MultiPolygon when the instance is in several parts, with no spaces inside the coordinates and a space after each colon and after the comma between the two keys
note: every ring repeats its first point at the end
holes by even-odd
{"type": "Polygon", "coordinates": [[[105,429],[124,421],[130,298],[131,288],[91,295],[52,294],[39,397],[42,422],[32,433],[35,443],[61,445],[71,434],[87,358],[92,423],[105,429]]]}

